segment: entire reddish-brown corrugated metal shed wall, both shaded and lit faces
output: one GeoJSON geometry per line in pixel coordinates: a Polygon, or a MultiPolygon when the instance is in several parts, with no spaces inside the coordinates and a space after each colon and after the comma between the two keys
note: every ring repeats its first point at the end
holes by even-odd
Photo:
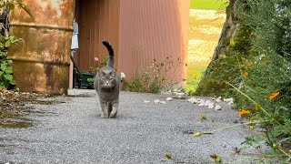
{"type": "Polygon", "coordinates": [[[115,67],[127,80],[151,61],[173,62],[165,71],[170,83],[186,78],[189,0],[79,0],[79,55],[81,69],[93,58],[107,56],[101,40],[115,48],[115,67]]]}

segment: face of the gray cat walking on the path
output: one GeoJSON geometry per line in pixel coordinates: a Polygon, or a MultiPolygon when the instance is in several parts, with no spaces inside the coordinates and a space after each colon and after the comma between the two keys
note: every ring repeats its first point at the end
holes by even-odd
{"type": "Polygon", "coordinates": [[[115,70],[100,70],[99,86],[103,88],[112,88],[116,86],[116,73],[115,70]]]}

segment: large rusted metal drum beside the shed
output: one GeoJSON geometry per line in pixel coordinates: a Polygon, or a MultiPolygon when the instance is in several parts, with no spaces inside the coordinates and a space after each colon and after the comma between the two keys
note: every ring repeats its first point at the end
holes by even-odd
{"type": "Polygon", "coordinates": [[[22,38],[9,48],[16,87],[21,91],[65,94],[69,85],[70,47],[75,0],[22,0],[10,32],[22,38]]]}

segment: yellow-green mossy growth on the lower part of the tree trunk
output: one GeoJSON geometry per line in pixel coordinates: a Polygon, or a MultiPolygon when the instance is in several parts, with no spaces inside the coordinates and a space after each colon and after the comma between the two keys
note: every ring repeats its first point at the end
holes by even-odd
{"type": "Polygon", "coordinates": [[[246,64],[249,61],[248,49],[251,44],[249,34],[251,32],[245,27],[240,28],[237,35],[231,38],[230,46],[226,54],[206,68],[208,77],[200,83],[196,95],[200,96],[221,96],[232,95],[232,88],[227,86],[225,81],[236,84],[239,87],[246,72],[246,64]]]}

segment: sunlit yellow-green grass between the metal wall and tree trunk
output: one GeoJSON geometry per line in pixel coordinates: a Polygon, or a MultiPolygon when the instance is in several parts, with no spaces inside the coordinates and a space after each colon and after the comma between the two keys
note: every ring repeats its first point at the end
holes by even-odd
{"type": "Polygon", "coordinates": [[[186,91],[189,94],[196,91],[217,46],[221,29],[225,23],[224,12],[220,12],[225,11],[225,2],[228,0],[191,0],[191,8],[194,9],[190,10],[189,18],[186,77],[186,91]],[[216,12],[217,10],[220,11],[216,12]]]}

